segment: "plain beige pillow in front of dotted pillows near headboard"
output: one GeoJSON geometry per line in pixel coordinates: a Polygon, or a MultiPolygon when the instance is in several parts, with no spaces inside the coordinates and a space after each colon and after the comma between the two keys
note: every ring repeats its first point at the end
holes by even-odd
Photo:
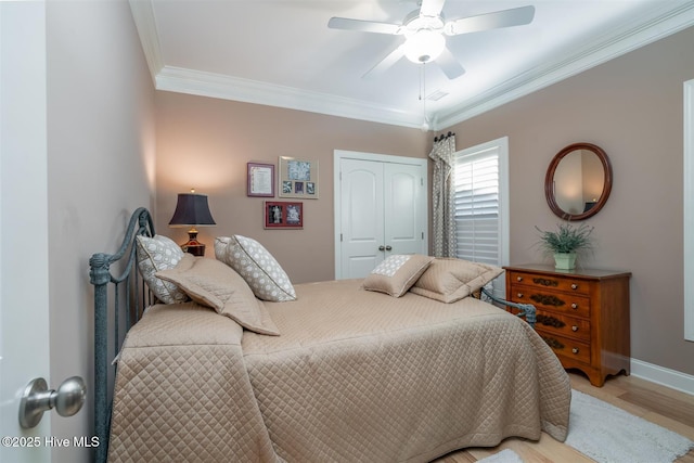
{"type": "Polygon", "coordinates": [[[197,304],[211,307],[247,330],[280,334],[265,305],[256,299],[246,282],[219,260],[188,254],[176,268],[156,275],[177,284],[197,304]]]}

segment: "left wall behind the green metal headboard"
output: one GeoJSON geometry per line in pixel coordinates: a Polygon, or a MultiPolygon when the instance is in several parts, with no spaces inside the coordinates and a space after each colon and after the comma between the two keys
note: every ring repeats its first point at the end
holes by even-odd
{"type": "MultiPolygon", "coordinates": [[[[50,413],[52,435],[92,435],[93,291],[88,261],[114,253],[130,214],[152,206],[154,87],[127,1],[47,2],[51,377],[80,375],[88,403],[50,413]]],[[[44,416],[46,419],[49,415],[44,416]]],[[[53,448],[53,462],[91,461],[53,448]]]]}

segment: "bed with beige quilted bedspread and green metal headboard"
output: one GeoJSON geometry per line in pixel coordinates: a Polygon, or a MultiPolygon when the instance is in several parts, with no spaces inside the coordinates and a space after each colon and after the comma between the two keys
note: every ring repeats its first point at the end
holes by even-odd
{"type": "MultiPolygon", "coordinates": [[[[422,287],[383,275],[285,281],[294,294],[281,284],[270,301],[218,240],[218,259],[188,255],[156,272],[188,296],[163,304],[142,268],[111,275],[121,257],[137,268],[137,236],[156,236],[146,209],[116,254],[91,260],[98,461],[427,462],[511,436],[566,438],[570,386],[552,350],[487,301],[423,295],[438,260],[408,276],[422,287]],[[254,296],[224,290],[240,279],[254,296]],[[110,282],[127,294],[119,303],[138,299],[125,321],[107,321],[119,312],[110,282]],[[113,324],[129,329],[125,340],[113,324]]],[[[406,260],[400,270],[416,259],[406,260]]]]}

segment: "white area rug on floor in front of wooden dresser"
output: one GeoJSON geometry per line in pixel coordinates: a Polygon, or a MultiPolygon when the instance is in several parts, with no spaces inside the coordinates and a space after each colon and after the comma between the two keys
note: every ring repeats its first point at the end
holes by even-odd
{"type": "Polygon", "coordinates": [[[671,463],[694,448],[684,436],[578,390],[566,445],[599,463],[671,463]]]}

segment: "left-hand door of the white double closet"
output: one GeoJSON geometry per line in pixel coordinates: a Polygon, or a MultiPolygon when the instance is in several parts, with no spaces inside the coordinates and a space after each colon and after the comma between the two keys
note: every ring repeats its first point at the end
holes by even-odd
{"type": "Polygon", "coordinates": [[[383,164],[343,159],[342,253],[343,278],[369,274],[383,260],[383,164]]]}

